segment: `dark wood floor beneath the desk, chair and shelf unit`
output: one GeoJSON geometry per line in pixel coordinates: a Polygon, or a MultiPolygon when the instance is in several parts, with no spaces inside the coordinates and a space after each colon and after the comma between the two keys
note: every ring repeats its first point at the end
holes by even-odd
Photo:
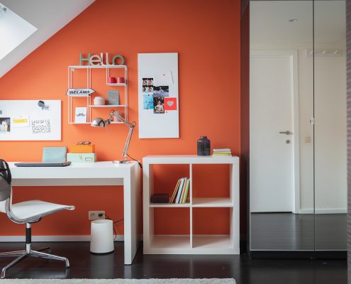
{"type": "MultiPolygon", "coordinates": [[[[38,243],[34,246],[45,246],[38,243]]],[[[267,260],[242,256],[152,256],[142,246],[132,266],[123,264],[123,242],[115,252],[96,256],[87,242],[56,242],[52,253],[67,256],[64,263],[28,258],[11,268],[7,278],[235,278],[239,284],[346,284],[346,260],[267,260]]],[[[1,243],[0,251],[22,249],[20,243],[1,243]]],[[[35,247],[34,247],[35,249],[35,247]]],[[[0,268],[12,258],[0,258],[0,268]]]]}

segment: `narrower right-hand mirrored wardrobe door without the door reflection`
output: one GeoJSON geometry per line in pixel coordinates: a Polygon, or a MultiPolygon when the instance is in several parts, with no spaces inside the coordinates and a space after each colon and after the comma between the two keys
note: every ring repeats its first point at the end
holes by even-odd
{"type": "Polygon", "coordinates": [[[314,1],[316,251],[346,250],[345,1],[314,1]]]}

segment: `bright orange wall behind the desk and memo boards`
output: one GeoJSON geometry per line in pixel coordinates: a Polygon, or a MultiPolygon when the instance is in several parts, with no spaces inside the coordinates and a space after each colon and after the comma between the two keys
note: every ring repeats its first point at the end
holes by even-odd
{"type": "MultiPolygon", "coordinates": [[[[0,158],[40,160],[44,146],[77,141],[94,143],[99,160],[120,157],[126,126],[112,125],[107,133],[67,124],[67,66],[79,65],[81,52],[124,56],[129,119],[137,123],[138,53],[179,53],[180,138],[139,139],[137,127],[129,150],[133,157],[195,154],[196,139],[204,135],[212,147],[240,153],[240,1],[96,0],[0,78],[0,99],[62,100],[62,141],[1,141],[0,158]]],[[[89,234],[88,210],[104,209],[113,219],[123,217],[122,188],[16,187],[14,195],[15,201],[38,198],[76,206],[74,212],[45,217],[33,234],[89,234]]],[[[11,224],[4,214],[0,222],[0,235],[23,234],[23,227],[11,224]]],[[[123,234],[123,224],[117,230],[123,234]]]]}

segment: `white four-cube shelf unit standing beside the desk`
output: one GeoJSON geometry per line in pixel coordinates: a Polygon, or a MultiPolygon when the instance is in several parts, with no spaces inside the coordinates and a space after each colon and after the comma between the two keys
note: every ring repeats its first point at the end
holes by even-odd
{"type": "MultiPolygon", "coordinates": [[[[172,189],[173,190],[173,189],[172,189]]],[[[232,156],[197,156],[197,155],[152,155],[143,158],[143,241],[144,254],[239,254],[240,218],[239,218],[239,158],[232,156]],[[189,202],[186,204],[151,204],[153,193],[154,165],[189,166],[189,202]],[[193,165],[226,164],[229,165],[228,198],[194,198],[193,165]],[[193,210],[196,208],[228,208],[230,214],[230,234],[196,235],[193,234],[193,210]],[[189,210],[189,235],[157,235],[154,228],[154,210],[157,208],[183,208],[189,210]]]]}

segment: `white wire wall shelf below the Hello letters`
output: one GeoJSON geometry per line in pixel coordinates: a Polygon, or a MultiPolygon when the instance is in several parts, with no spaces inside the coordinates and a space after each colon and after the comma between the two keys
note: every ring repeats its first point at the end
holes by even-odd
{"type": "MultiPolygon", "coordinates": [[[[87,70],[87,89],[91,88],[91,70],[94,69],[105,69],[106,70],[106,85],[111,87],[123,87],[124,91],[124,102],[125,104],[104,104],[104,105],[94,105],[91,104],[91,95],[68,95],[68,123],[69,124],[82,124],[74,122],[74,108],[73,108],[73,99],[74,97],[87,97],[87,102],[85,106],[79,107],[87,107],[87,122],[83,124],[91,123],[91,109],[94,108],[108,108],[114,109],[118,111],[118,109],[124,109],[124,114],[122,114],[123,118],[128,121],[128,67],[126,65],[76,65],[76,66],[68,66],[68,88],[74,88],[73,82],[73,74],[75,69],[86,69],[87,70]],[[110,69],[124,69],[124,78],[125,83],[108,83],[108,77],[110,76],[110,69]]],[[[79,88],[82,86],[79,86],[79,88]]],[[[94,89],[94,88],[92,88],[94,89]]],[[[94,96],[94,93],[92,94],[94,96]]],[[[106,114],[108,117],[108,114],[106,114]]],[[[120,121],[113,121],[112,124],[122,124],[120,121]]]]}

